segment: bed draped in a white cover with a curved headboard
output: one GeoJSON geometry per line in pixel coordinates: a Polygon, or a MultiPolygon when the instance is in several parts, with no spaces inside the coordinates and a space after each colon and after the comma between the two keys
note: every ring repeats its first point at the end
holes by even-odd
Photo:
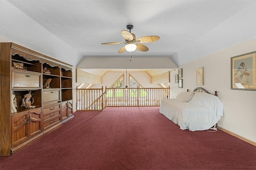
{"type": "Polygon", "coordinates": [[[160,113],[173,121],[180,129],[204,131],[216,125],[223,115],[223,103],[215,94],[203,88],[181,92],[176,99],[163,99],[160,113]]]}

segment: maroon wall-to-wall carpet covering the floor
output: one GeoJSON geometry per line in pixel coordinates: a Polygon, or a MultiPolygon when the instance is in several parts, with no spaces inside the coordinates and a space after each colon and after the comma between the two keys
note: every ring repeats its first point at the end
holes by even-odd
{"type": "Polygon", "coordinates": [[[108,107],[74,115],[20,152],[0,157],[0,169],[256,169],[255,146],[220,130],[181,130],[159,107],[108,107]]]}

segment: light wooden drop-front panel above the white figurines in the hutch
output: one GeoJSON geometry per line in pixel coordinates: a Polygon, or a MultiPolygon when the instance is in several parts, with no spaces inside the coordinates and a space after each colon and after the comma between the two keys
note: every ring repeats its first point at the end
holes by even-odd
{"type": "Polygon", "coordinates": [[[41,74],[12,70],[12,89],[41,88],[41,74]]]}

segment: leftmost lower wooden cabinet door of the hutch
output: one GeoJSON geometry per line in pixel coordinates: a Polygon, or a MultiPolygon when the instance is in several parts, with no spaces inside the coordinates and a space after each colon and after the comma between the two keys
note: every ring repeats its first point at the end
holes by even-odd
{"type": "Polygon", "coordinates": [[[12,115],[12,146],[28,140],[28,116],[28,111],[12,115]]]}

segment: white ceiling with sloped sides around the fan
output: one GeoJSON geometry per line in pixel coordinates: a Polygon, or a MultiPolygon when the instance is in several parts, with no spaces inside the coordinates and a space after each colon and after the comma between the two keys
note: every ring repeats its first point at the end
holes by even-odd
{"type": "Polygon", "coordinates": [[[132,24],[136,38],[160,36],[133,57],[180,66],[256,38],[255,9],[256,0],[0,0],[0,36],[77,66],[85,57],[129,57],[118,54],[123,44],[101,43],[124,41],[132,24]]]}

